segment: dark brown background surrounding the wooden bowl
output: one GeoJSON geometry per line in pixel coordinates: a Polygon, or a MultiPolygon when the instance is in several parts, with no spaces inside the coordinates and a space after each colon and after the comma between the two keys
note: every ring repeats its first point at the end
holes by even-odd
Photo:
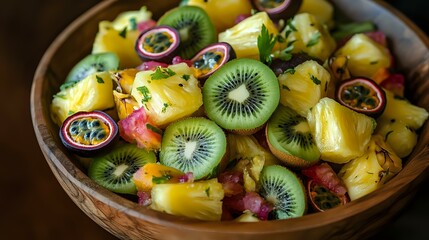
{"type": "MultiPolygon", "coordinates": [[[[0,238],[114,239],[62,190],[39,149],[30,89],[49,44],[99,0],[3,1],[0,7],[0,238]]],[[[429,1],[388,1],[429,33],[429,1]]],[[[90,40],[89,40],[90,41],[90,40]]],[[[429,239],[429,180],[374,239],[429,239]]]]}

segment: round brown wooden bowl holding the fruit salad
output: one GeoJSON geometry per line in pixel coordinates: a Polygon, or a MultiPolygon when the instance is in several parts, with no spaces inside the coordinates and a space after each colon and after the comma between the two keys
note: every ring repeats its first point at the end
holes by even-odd
{"type": "MultiPolygon", "coordinates": [[[[300,218],[258,223],[201,222],[152,211],[97,185],[62,146],[49,117],[52,95],[71,67],[90,52],[98,22],[147,5],[155,18],[179,1],[102,1],[73,22],[52,43],[34,76],[31,114],[40,148],[61,186],[90,218],[120,238],[132,239],[362,239],[373,235],[414,196],[429,172],[429,130],[425,125],[403,170],[381,189],[345,206],[300,218]]],[[[407,73],[408,97],[429,109],[429,41],[407,18],[380,1],[333,0],[353,20],[371,20],[394,48],[407,73]]],[[[42,164],[42,163],[41,163],[42,164]]]]}

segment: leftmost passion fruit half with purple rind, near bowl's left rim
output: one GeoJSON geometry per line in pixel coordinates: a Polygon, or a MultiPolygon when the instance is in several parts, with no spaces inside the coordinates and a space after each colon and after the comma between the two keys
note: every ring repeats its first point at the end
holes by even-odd
{"type": "Polygon", "coordinates": [[[63,122],[60,138],[67,149],[87,157],[108,149],[118,139],[118,132],[115,120],[105,112],[77,112],[63,122]]]}

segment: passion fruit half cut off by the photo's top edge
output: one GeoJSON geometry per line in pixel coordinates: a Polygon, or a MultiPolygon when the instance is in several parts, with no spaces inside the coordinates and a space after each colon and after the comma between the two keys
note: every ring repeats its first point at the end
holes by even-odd
{"type": "Polygon", "coordinates": [[[294,16],[302,0],[252,0],[252,4],[258,11],[267,12],[271,19],[280,20],[294,16]]]}

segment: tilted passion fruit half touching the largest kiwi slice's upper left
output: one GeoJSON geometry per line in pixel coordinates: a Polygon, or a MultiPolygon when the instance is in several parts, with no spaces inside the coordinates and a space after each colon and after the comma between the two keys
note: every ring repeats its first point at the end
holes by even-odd
{"type": "Polygon", "coordinates": [[[236,57],[230,44],[226,42],[210,44],[191,59],[194,76],[198,79],[207,79],[217,69],[236,57]]]}

